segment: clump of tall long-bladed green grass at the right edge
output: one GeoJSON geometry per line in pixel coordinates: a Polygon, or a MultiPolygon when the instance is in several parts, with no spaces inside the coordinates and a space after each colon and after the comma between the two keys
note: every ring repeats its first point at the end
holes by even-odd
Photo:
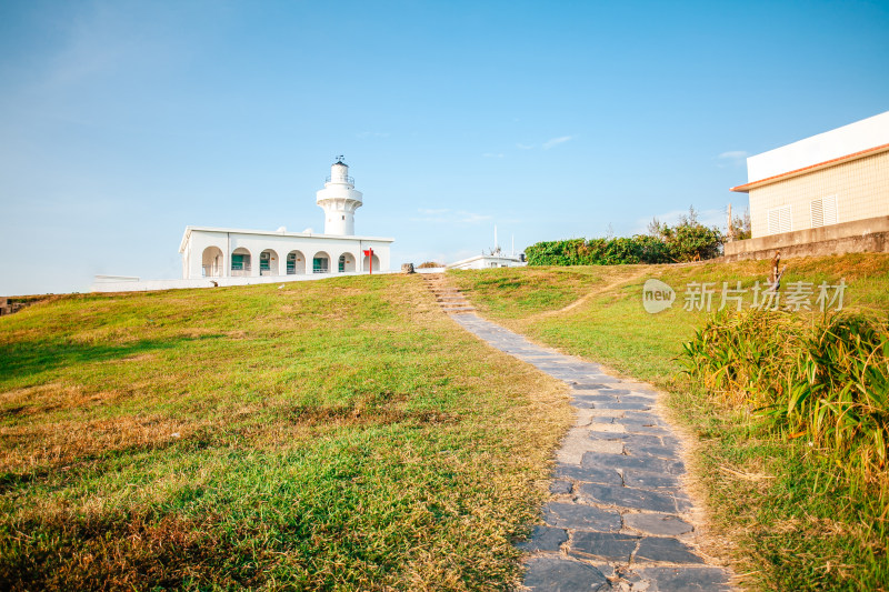
{"type": "MultiPolygon", "coordinates": [[[[749,405],[786,438],[807,438],[889,506],[889,324],[861,313],[822,318],[720,313],[685,344],[686,371],[713,395],[749,405]]],[[[883,516],[885,518],[885,516],[883,516]]]]}

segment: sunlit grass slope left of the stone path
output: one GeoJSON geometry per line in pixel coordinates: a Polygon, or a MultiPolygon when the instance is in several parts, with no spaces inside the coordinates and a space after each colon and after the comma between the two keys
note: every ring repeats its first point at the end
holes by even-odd
{"type": "Polygon", "coordinates": [[[12,589],[501,590],[570,422],[416,278],[0,319],[12,589]]]}

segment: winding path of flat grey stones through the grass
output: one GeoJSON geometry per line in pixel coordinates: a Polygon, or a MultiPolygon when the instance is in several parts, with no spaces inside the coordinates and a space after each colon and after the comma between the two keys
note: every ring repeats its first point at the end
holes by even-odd
{"type": "Polygon", "coordinates": [[[679,441],[657,392],[540,348],[473,313],[452,319],[495,348],[567,382],[577,423],[557,453],[545,525],[521,544],[530,590],[730,590],[730,573],[691,546],[679,441]]]}

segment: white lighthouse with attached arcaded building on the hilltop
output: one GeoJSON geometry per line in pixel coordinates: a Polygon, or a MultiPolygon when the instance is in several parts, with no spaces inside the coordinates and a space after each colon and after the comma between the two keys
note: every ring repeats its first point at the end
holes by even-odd
{"type": "MultiPolygon", "coordinates": [[[[394,239],[354,235],[362,205],[349,167],[338,157],[316,203],[324,210],[324,233],[187,227],[179,245],[182,279],[287,277],[387,271],[394,239]],[[372,258],[364,254],[372,249],[372,258]]],[[[229,282],[226,282],[229,283],[229,282]]]]}

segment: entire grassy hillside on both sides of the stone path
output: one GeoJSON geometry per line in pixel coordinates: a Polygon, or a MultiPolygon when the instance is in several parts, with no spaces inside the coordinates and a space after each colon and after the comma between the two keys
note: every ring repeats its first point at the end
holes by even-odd
{"type": "MultiPolygon", "coordinates": [[[[887,255],[787,263],[785,287],[845,278],[847,309],[889,311],[887,255]]],[[[710,318],[683,310],[687,287],[716,283],[716,308],[767,265],[449,278],[483,315],[670,393],[708,551],[748,588],[886,590],[879,488],[679,374],[710,318]],[[658,314],[651,278],[679,292],[658,314]]],[[[34,303],[0,318],[0,586],[508,589],[571,421],[562,388],[416,277],[34,303]]]]}

